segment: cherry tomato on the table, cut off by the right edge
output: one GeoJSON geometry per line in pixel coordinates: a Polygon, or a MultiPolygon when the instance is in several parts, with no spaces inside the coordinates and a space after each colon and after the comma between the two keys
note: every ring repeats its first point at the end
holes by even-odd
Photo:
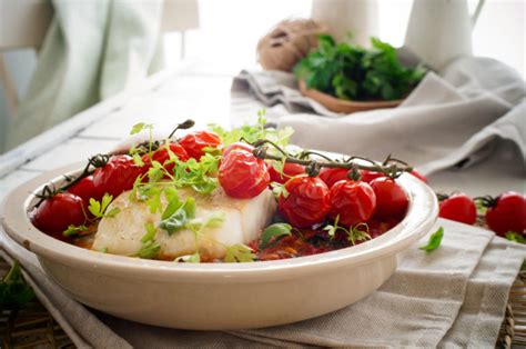
{"type": "Polygon", "coordinates": [[[526,231],[526,198],[513,191],[502,193],[487,209],[486,223],[502,237],[508,231],[524,233],[526,231]]]}

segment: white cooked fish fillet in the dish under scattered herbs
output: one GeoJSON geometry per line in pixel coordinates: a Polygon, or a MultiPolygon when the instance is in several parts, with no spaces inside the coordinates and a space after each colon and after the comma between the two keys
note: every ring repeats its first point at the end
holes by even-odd
{"type": "MultiPolygon", "coordinates": [[[[267,189],[252,199],[230,198],[221,188],[209,196],[192,190],[179,190],[178,193],[181,200],[189,196],[195,198],[195,219],[204,222],[221,212],[224,220],[218,228],[204,229],[199,239],[189,229],[181,229],[170,236],[156,228],[154,240],[161,247],[159,257],[162,259],[192,255],[198,248],[202,259],[221,259],[225,256],[224,246],[247,243],[255,239],[275,211],[275,200],[267,189]]],[[[164,196],[161,202],[163,207],[166,205],[164,196]]],[[[134,256],[141,249],[141,239],[146,233],[144,225],[151,222],[158,227],[161,212],[151,213],[144,202],[130,200],[130,191],[117,197],[108,210],[112,208],[119,208],[120,212],[114,217],[102,218],[92,249],[134,256]]]]}

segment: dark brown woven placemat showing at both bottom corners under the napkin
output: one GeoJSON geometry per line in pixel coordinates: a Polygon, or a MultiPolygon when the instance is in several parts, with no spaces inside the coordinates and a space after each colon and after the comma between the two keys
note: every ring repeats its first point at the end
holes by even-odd
{"type": "MultiPolygon", "coordinates": [[[[10,266],[0,258],[0,277],[10,266]]],[[[17,311],[0,313],[1,348],[74,348],[71,339],[37,300],[17,311]]],[[[526,272],[520,272],[509,292],[498,348],[526,347],[526,272]]]]}

